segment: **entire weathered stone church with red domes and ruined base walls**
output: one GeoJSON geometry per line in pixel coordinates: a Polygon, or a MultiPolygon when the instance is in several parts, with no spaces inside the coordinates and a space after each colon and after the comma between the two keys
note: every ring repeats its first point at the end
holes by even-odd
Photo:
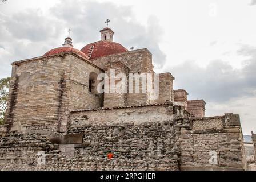
{"type": "Polygon", "coordinates": [[[152,79],[154,88],[159,84],[155,99],[141,93],[141,84],[138,93],[117,92],[111,84],[114,93],[97,92],[98,76],[111,82],[112,69],[125,75],[127,90],[130,75],[157,75],[147,49],[127,51],[113,37],[102,38],[85,52],[70,48],[69,38],[65,49],[12,64],[0,169],[246,169],[239,115],[205,118],[205,101],[187,101],[186,90],[173,90],[171,73],[152,79]]]}

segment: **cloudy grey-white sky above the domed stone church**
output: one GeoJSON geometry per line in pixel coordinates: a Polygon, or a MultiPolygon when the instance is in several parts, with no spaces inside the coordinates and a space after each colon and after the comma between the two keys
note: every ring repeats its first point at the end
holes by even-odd
{"type": "Polygon", "coordinates": [[[75,48],[99,40],[107,18],[115,42],[148,48],[207,116],[240,114],[243,134],[256,132],[256,0],[0,1],[0,78],[61,47],[68,28],[75,48]]]}

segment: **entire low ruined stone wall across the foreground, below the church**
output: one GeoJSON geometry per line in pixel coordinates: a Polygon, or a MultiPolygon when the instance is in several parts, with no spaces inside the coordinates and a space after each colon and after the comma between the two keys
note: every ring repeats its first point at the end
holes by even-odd
{"type": "Polygon", "coordinates": [[[73,111],[66,135],[9,133],[0,143],[2,170],[245,169],[237,115],[191,118],[173,104],[73,111]],[[46,153],[42,166],[39,151],[46,153]],[[216,164],[209,163],[212,151],[216,164]]]}

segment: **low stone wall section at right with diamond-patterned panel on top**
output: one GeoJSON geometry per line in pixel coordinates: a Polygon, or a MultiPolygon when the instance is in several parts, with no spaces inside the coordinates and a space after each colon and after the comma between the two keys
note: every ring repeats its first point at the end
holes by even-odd
{"type": "Polygon", "coordinates": [[[179,144],[183,170],[246,169],[239,115],[193,118],[181,129],[179,144]]]}

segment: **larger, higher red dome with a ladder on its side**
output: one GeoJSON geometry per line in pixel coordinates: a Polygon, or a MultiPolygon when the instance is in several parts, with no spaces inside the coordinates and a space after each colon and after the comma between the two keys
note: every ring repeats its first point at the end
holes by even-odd
{"type": "Polygon", "coordinates": [[[121,44],[111,41],[94,42],[83,47],[81,51],[88,56],[91,46],[94,46],[94,48],[93,52],[91,53],[90,59],[95,59],[106,55],[113,55],[115,53],[122,53],[128,51],[121,44]]]}

